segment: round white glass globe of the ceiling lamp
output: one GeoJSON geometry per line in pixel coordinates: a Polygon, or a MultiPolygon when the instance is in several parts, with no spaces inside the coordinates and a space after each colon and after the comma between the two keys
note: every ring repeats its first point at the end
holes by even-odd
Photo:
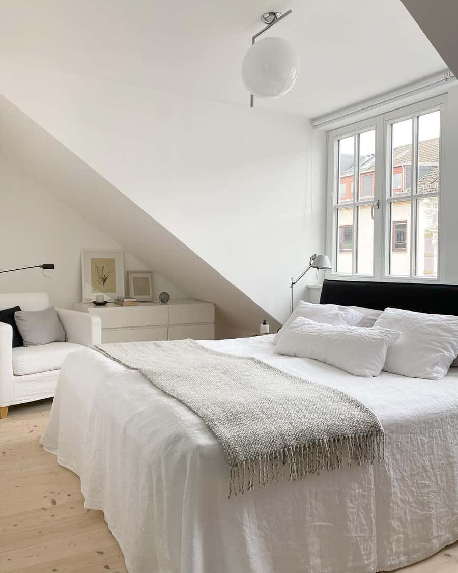
{"type": "Polygon", "coordinates": [[[258,97],[280,97],[293,88],[299,73],[299,58],[291,43],[270,37],[253,44],[242,62],[242,80],[258,97]]]}

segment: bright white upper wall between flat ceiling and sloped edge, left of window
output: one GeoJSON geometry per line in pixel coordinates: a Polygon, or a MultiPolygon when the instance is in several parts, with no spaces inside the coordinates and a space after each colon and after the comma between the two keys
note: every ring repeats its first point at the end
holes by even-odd
{"type": "Polygon", "coordinates": [[[325,134],[298,117],[42,70],[4,69],[0,92],[285,319],[289,277],[325,244],[325,134]]]}

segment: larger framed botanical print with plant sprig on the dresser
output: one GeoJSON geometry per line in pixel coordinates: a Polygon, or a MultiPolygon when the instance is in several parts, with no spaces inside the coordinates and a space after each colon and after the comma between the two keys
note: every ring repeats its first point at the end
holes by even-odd
{"type": "Polygon", "coordinates": [[[124,296],[123,251],[82,249],[82,301],[90,303],[96,295],[105,300],[124,296]]]}

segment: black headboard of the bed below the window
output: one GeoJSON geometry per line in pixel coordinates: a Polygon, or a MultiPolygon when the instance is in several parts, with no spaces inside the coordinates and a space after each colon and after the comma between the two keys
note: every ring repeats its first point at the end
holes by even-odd
{"type": "Polygon", "coordinates": [[[458,316],[458,285],[326,279],[319,302],[458,316]]]}

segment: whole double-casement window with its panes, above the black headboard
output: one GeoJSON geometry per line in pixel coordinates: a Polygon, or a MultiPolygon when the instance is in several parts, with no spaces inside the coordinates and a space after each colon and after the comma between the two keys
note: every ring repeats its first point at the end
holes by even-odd
{"type": "Polygon", "coordinates": [[[436,278],[441,97],[329,134],[333,273],[436,278]]]}

